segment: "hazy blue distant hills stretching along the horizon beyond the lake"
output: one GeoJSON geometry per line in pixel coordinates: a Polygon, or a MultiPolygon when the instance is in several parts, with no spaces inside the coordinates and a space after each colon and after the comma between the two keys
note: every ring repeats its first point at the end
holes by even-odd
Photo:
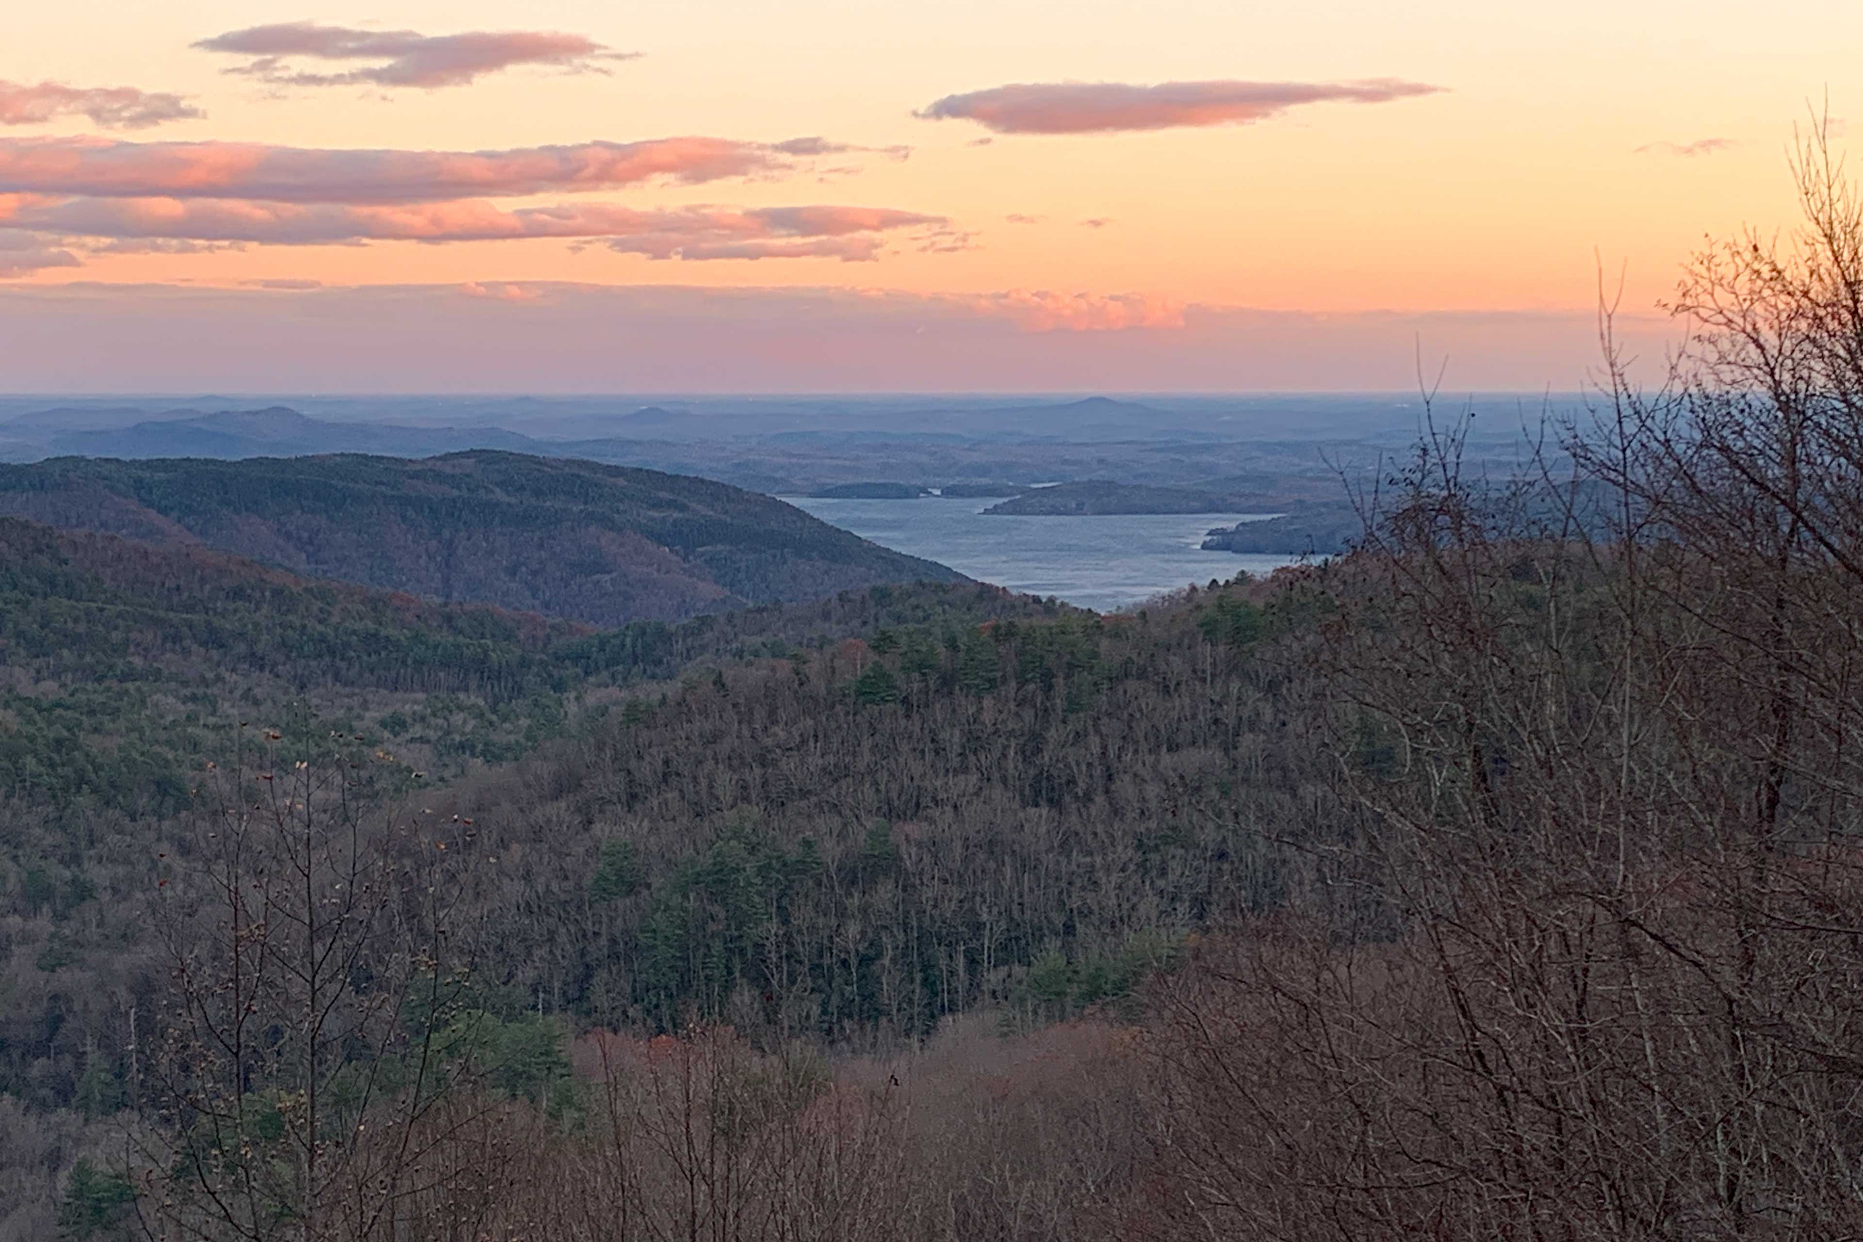
{"type": "MultiPolygon", "coordinates": [[[[1509,398],[1509,404],[1511,398],[1509,398]]],[[[1474,408],[1474,406],[1470,406],[1474,408]]],[[[1498,408],[1485,402],[1481,410],[1498,408]]],[[[499,449],[715,479],[766,495],[898,480],[1004,495],[1041,480],[1330,499],[1414,436],[1377,397],[0,397],[0,462],[242,460],[499,449]]],[[[1516,460],[1509,419],[1472,462],[1516,460]]],[[[1259,512],[1263,505],[1244,512],[1259,512]]]]}

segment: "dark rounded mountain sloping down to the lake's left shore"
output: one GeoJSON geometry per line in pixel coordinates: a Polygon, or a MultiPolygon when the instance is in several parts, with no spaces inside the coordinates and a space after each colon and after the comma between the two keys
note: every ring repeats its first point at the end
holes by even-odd
{"type": "Polygon", "coordinates": [[[0,467],[0,512],[598,626],[959,577],[725,484],[490,451],[54,458],[0,467]]]}

